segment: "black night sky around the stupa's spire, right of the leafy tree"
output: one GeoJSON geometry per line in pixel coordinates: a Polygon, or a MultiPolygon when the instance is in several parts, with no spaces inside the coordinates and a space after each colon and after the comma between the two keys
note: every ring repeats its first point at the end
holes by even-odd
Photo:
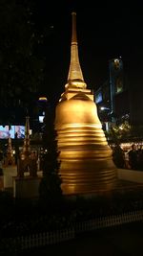
{"type": "MultiPolygon", "coordinates": [[[[143,83],[143,4],[135,6],[94,1],[37,2],[36,22],[46,26],[43,46],[46,57],[44,89],[48,98],[59,99],[67,81],[72,38],[72,11],[77,14],[79,59],[88,88],[97,89],[107,80],[108,61],[122,57],[124,71],[138,88],[143,83]],[[77,3],[78,2],[78,3],[77,3]]],[[[135,86],[136,86],[135,85],[135,86]]]]}

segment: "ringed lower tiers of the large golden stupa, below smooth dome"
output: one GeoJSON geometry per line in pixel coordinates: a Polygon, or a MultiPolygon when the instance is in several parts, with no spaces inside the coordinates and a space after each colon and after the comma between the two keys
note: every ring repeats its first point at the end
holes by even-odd
{"type": "Polygon", "coordinates": [[[57,128],[57,134],[63,194],[111,191],[117,173],[101,126],[67,124],[57,128]]]}

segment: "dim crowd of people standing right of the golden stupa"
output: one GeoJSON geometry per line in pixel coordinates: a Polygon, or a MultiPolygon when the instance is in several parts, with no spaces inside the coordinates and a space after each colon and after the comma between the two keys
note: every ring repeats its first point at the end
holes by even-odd
{"type": "Polygon", "coordinates": [[[112,159],[117,168],[143,171],[143,148],[132,145],[129,151],[124,151],[120,145],[112,148],[112,159]]]}

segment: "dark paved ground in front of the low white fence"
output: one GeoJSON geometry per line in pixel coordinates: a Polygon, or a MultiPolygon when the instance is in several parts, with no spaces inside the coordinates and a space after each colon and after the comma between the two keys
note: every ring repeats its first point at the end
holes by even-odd
{"type": "Polygon", "coordinates": [[[20,256],[142,256],[143,222],[106,228],[75,240],[25,251],[20,256]]]}

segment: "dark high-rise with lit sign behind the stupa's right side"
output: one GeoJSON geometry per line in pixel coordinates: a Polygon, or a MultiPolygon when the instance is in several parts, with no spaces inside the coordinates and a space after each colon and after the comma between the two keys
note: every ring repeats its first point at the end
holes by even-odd
{"type": "Polygon", "coordinates": [[[95,92],[101,121],[120,124],[130,120],[129,82],[124,74],[122,58],[109,60],[109,77],[95,92]]]}

